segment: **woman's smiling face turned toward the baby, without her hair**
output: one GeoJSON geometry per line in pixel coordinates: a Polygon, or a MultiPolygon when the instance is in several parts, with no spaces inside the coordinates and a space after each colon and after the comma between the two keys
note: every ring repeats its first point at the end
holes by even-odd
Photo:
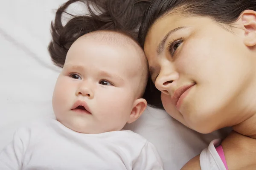
{"type": "Polygon", "coordinates": [[[244,30],[227,29],[208,17],[172,14],[154,23],[145,38],[164,108],[201,133],[240,121],[235,117],[248,100],[245,89],[255,81],[255,52],[244,44],[244,30]]]}

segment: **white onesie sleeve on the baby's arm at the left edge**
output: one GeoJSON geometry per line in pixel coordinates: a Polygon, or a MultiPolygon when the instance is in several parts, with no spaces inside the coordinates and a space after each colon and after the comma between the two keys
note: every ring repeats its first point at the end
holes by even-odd
{"type": "Polygon", "coordinates": [[[12,142],[0,152],[0,170],[21,170],[24,146],[27,144],[22,138],[28,135],[24,134],[25,131],[17,130],[12,142]]]}

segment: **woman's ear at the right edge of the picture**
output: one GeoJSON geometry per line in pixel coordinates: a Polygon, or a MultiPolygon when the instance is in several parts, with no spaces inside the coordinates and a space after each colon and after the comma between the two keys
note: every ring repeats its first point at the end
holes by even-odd
{"type": "Polygon", "coordinates": [[[244,27],[244,44],[252,47],[256,45],[256,11],[245,10],[240,20],[244,27]]]}

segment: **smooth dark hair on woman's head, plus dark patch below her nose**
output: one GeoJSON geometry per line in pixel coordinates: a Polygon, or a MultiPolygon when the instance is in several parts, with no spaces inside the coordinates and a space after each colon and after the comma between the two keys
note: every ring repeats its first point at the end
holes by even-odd
{"type": "MultiPolygon", "coordinates": [[[[188,16],[210,17],[217,23],[231,24],[246,9],[256,11],[256,0],[155,0],[145,11],[138,40],[143,47],[145,37],[151,26],[171,11],[182,11],[182,14],[188,16]]],[[[163,108],[160,91],[157,90],[151,80],[148,81],[148,84],[151,86],[145,94],[147,95],[148,104],[157,108],[163,108]]]]}

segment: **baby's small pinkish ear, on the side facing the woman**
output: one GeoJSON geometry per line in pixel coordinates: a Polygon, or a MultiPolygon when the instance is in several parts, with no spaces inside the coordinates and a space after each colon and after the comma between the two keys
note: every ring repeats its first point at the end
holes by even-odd
{"type": "Polygon", "coordinates": [[[145,99],[136,99],[133,104],[133,108],[130,114],[130,119],[127,123],[132,123],[137,120],[140,115],[145,111],[147,107],[147,101],[145,99]]]}

